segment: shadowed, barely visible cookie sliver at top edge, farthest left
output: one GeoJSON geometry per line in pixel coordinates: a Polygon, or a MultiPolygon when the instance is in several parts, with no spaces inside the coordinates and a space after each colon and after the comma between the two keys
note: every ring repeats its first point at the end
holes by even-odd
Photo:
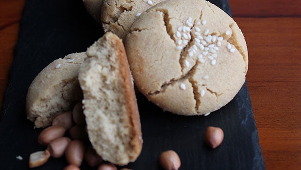
{"type": "Polygon", "coordinates": [[[84,6],[87,9],[88,13],[98,22],[101,23],[100,20],[100,11],[102,0],[83,0],[84,6]]]}

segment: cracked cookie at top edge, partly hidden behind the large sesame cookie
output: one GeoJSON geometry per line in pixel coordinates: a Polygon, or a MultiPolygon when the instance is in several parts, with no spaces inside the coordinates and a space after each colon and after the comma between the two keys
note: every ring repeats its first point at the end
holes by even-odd
{"type": "Polygon", "coordinates": [[[123,39],[134,20],[142,12],[161,1],[164,0],[103,0],[102,28],[104,32],[111,31],[123,39]]]}

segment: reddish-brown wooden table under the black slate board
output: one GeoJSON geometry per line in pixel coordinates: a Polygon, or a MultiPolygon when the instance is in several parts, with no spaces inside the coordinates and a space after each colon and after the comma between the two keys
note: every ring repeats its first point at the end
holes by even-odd
{"type": "MultiPolygon", "coordinates": [[[[0,1],[0,105],[25,0],[0,1]]],[[[267,170],[301,170],[301,0],[229,0],[267,170]]]]}

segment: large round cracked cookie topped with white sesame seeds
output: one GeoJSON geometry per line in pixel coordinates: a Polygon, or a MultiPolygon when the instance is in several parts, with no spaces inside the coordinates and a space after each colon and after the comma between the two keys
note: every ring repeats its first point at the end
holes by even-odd
{"type": "Polygon", "coordinates": [[[164,110],[204,115],[230,102],[248,70],[244,36],[205,0],[167,0],[138,17],[125,39],[135,84],[164,110]]]}

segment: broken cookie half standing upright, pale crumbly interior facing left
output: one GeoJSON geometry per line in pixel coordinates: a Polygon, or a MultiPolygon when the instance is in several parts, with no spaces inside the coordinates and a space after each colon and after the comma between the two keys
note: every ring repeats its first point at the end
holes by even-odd
{"type": "Polygon", "coordinates": [[[142,150],[142,134],[123,43],[108,32],[86,54],[79,81],[90,142],[103,160],[134,162],[142,150]]]}

